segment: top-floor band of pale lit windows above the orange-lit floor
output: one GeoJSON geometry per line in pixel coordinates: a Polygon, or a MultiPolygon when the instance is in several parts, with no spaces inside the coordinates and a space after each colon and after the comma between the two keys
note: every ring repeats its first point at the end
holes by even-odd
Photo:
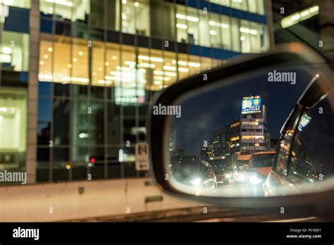
{"type": "Polygon", "coordinates": [[[82,34],[90,25],[92,38],[103,39],[104,30],[116,30],[242,53],[268,49],[268,30],[259,21],[263,0],[211,1],[219,4],[216,10],[221,13],[204,11],[201,2],[189,1],[190,7],[157,0],[41,0],[40,11],[42,18],[56,20],[58,34],[70,35],[70,29],[75,29],[73,35],[82,34]],[[224,11],[225,6],[245,14],[224,11]],[[245,15],[245,21],[238,15],[245,15]]]}

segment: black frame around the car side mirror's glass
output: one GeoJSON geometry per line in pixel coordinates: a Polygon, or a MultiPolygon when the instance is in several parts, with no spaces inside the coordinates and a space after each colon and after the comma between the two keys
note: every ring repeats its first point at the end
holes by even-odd
{"type": "MultiPolygon", "coordinates": [[[[199,73],[191,77],[187,77],[184,80],[171,84],[171,86],[158,92],[154,95],[154,99],[150,103],[150,108],[147,112],[147,129],[148,129],[148,142],[150,148],[150,171],[151,177],[153,177],[163,191],[173,196],[180,198],[190,199],[194,201],[200,201],[202,203],[212,203],[215,205],[223,205],[226,207],[242,207],[242,208],[254,208],[254,207],[270,207],[270,206],[312,206],[319,205],[321,203],[326,204],[333,202],[334,189],[329,191],[323,191],[314,194],[298,194],[295,196],[273,196],[273,197],[215,197],[215,196],[194,196],[191,194],[185,194],[173,189],[168,180],[165,180],[166,172],[164,172],[164,156],[163,156],[163,139],[166,134],[165,123],[166,115],[153,115],[153,106],[161,104],[162,106],[169,106],[179,96],[185,92],[190,92],[194,89],[207,86],[208,84],[214,84],[218,80],[227,77],[233,77],[237,73],[247,73],[252,70],[259,69],[261,67],[268,67],[269,65],[296,65],[308,64],[308,65],[328,65],[331,66],[330,61],[326,56],[323,56],[316,51],[309,49],[299,43],[281,44],[274,47],[266,54],[252,55],[245,57],[235,58],[230,63],[224,65],[221,68],[214,68],[204,73],[199,73]],[[203,75],[207,75],[207,80],[203,80],[203,75]]],[[[327,73],[330,74],[331,70],[328,69],[327,73]]],[[[332,89],[334,87],[331,84],[332,89]]]]}

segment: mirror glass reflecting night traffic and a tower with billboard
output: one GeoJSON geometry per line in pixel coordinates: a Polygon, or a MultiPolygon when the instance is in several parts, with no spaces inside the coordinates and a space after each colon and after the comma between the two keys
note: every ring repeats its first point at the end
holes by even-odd
{"type": "Polygon", "coordinates": [[[334,94],[319,93],[311,108],[297,106],[309,84],[320,79],[325,78],[311,67],[268,68],[178,98],[169,108],[164,139],[171,186],[226,197],[333,187],[334,94]]]}

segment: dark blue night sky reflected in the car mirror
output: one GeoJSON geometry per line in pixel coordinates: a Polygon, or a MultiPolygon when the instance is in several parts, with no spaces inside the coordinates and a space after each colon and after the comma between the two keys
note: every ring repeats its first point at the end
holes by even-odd
{"type": "Polygon", "coordinates": [[[245,75],[229,84],[222,80],[209,91],[203,92],[202,88],[199,94],[181,100],[178,104],[182,107],[182,115],[180,118],[174,116],[171,124],[176,131],[176,149],[183,148],[187,155],[199,156],[204,140],[211,142],[215,131],[240,118],[242,97],[249,95],[261,96],[261,103],[267,107],[268,132],[271,139],[279,138],[283,123],[314,75],[302,68],[285,69],[285,72],[297,73],[297,82],[292,85],[290,82],[268,82],[270,71],[273,70],[245,75]]]}

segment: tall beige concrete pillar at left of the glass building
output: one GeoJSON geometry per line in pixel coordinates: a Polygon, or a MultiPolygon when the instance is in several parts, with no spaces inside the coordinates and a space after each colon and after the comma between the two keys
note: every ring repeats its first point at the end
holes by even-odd
{"type": "Polygon", "coordinates": [[[31,0],[29,82],[27,99],[27,153],[25,165],[27,183],[36,182],[37,172],[37,110],[38,110],[38,67],[39,67],[39,0],[31,0]]]}

